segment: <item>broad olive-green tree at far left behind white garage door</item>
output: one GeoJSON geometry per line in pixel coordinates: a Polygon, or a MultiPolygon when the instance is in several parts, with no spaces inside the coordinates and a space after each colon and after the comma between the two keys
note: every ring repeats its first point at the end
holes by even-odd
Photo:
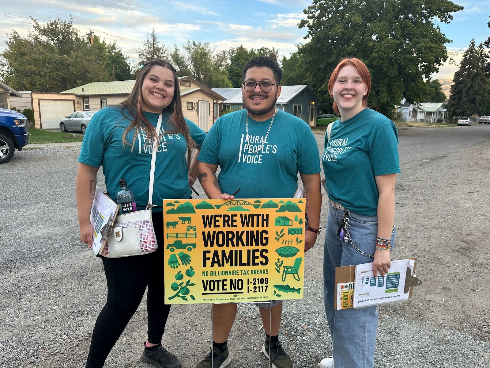
{"type": "Polygon", "coordinates": [[[59,18],[41,25],[31,18],[32,30],[21,37],[7,35],[1,78],[18,91],[61,92],[81,84],[111,80],[90,46],[69,21],[59,18]]]}

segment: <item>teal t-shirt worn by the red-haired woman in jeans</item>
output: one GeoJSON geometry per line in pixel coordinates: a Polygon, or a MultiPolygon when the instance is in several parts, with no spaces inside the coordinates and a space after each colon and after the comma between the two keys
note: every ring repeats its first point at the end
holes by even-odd
{"type": "Polygon", "coordinates": [[[375,216],[375,176],[400,172],[398,131],[386,116],[365,108],[349,120],[337,120],[321,158],[328,197],[343,207],[375,216]]]}

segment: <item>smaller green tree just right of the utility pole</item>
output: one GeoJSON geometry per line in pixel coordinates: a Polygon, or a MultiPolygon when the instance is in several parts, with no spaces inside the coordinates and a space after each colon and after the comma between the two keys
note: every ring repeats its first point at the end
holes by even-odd
{"type": "MultiPolygon", "coordinates": [[[[87,39],[88,41],[89,39],[87,39]]],[[[98,62],[103,64],[104,69],[112,77],[112,80],[131,79],[131,70],[127,63],[129,56],[123,55],[123,51],[116,42],[100,41],[100,38],[94,35],[93,47],[97,51],[98,62]]]]}

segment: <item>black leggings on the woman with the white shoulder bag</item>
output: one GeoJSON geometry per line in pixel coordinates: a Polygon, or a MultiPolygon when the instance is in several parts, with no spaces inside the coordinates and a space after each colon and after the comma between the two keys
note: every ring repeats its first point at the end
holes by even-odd
{"type": "Polygon", "coordinates": [[[159,248],[150,254],[105,258],[107,301],[98,315],[92,334],[86,368],[101,368],[129,319],[147,293],[148,342],[162,342],[170,304],[164,297],[163,212],[153,212],[153,227],[159,248]]]}

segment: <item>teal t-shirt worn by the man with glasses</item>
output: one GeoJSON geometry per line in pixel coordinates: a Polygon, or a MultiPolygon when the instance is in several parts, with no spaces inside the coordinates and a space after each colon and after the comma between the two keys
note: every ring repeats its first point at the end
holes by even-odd
{"type": "Polygon", "coordinates": [[[272,126],[271,119],[257,122],[248,117],[247,140],[246,114],[243,109],[221,116],[204,140],[199,161],[220,165],[218,181],[223,193],[240,188],[236,198],[292,197],[298,186],[298,171],[320,172],[313,132],[303,120],[278,110],[272,126]]]}

